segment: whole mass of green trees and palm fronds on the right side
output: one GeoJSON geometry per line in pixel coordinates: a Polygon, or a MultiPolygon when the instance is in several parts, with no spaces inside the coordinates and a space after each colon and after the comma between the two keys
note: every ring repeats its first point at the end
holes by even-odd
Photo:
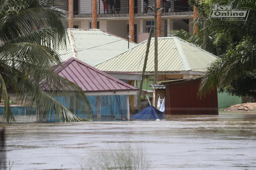
{"type": "MultiPolygon", "coordinates": [[[[184,31],[172,33],[199,47],[203,46],[203,36],[206,36],[206,50],[220,57],[206,71],[200,85],[201,95],[215,87],[229,89],[231,94],[239,94],[240,92],[231,92],[232,88],[229,88],[229,85],[234,82],[237,85],[239,79],[243,82],[245,75],[256,70],[256,2],[254,0],[191,0],[190,3],[199,11],[199,18],[193,23],[197,26],[198,32],[196,35],[184,31]],[[232,10],[249,10],[248,18],[246,20],[208,18],[213,4],[232,4],[232,10]],[[207,18],[206,23],[203,22],[205,18],[207,18]]],[[[248,82],[244,85],[251,86],[248,82]]],[[[245,86],[244,89],[250,89],[245,86]]],[[[255,91],[248,91],[247,95],[254,95],[253,93],[255,91]]]]}

